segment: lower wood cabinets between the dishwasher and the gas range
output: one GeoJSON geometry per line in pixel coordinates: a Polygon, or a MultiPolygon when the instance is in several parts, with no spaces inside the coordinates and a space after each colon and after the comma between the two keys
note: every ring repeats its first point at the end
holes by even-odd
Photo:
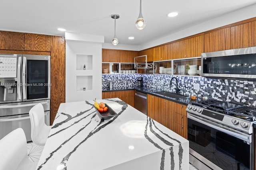
{"type": "Polygon", "coordinates": [[[148,116],[184,138],[188,138],[186,106],[148,94],[148,116]]]}

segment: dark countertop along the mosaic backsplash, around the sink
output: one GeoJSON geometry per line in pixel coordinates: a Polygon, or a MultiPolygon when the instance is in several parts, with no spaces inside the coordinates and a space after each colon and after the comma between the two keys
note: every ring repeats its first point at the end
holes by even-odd
{"type": "Polygon", "coordinates": [[[158,96],[160,98],[171,100],[173,102],[177,102],[177,103],[184,104],[184,105],[191,104],[191,102],[196,102],[198,100],[199,101],[203,100],[202,98],[197,98],[196,100],[191,100],[190,97],[185,97],[185,96],[179,96],[178,98],[177,97],[170,98],[170,97],[155,93],[155,92],[166,91],[166,90],[156,89],[156,88],[146,87],[146,86],[142,86],[142,87],[127,86],[127,87],[116,87],[116,88],[111,88],[111,89],[110,88],[102,88],[102,92],[112,92],[112,91],[122,91],[122,90],[136,90],[138,92],[151,94],[151,95],[158,96]]]}

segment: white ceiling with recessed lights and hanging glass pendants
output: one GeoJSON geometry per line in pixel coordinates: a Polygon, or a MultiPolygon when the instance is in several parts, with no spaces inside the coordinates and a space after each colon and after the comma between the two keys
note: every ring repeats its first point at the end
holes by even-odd
{"type": "Polygon", "coordinates": [[[0,30],[64,35],[67,32],[103,35],[105,43],[114,37],[114,19],[119,44],[141,45],[255,4],[256,0],[142,0],[146,27],[138,30],[140,0],[2,0],[0,30]],[[168,18],[169,12],[178,12],[168,18]],[[134,36],[134,40],[129,40],[134,36]]]}

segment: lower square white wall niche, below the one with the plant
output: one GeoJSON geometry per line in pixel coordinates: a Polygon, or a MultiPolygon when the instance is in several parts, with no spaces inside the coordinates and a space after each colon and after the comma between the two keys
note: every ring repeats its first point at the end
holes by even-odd
{"type": "Polygon", "coordinates": [[[92,76],[76,76],[76,91],[92,90],[92,76]]]}

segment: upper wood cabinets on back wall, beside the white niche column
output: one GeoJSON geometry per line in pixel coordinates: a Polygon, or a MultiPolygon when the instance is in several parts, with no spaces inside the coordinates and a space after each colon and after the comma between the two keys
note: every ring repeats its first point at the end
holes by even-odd
{"type": "Polygon", "coordinates": [[[138,51],[102,49],[102,62],[134,63],[138,51]]]}

